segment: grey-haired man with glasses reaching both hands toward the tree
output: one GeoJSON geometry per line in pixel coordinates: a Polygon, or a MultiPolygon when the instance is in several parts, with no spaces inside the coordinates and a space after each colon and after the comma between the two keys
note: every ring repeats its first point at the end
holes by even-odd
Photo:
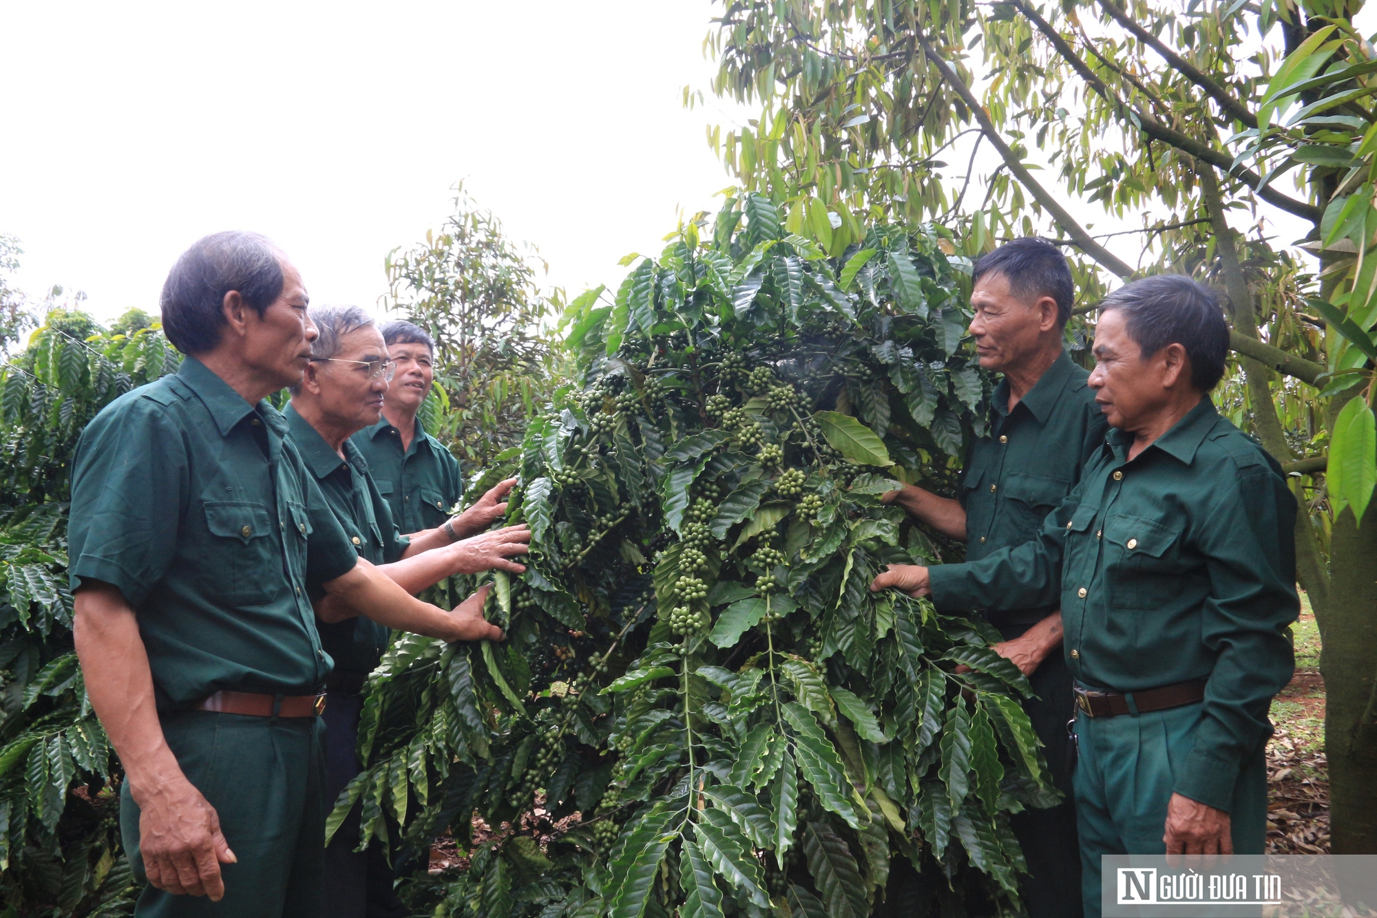
{"type": "MultiPolygon", "coordinates": [[[[315,476],[359,557],[380,566],[409,593],[453,574],[501,568],[526,570],[511,560],[530,541],[525,526],[508,526],[463,541],[452,541],[443,529],[399,535],[392,513],[369,473],[358,447],[348,439],[375,424],[383,394],[392,377],[383,334],[373,318],[358,307],[311,308],[319,332],[311,345],[311,363],[302,383],[292,387],[286,406],[288,435],[315,476]]],[[[463,533],[481,531],[505,512],[498,502],[507,489],[493,489],[453,520],[463,533]]],[[[330,705],[325,710],[326,798],[335,800],[359,772],[355,747],[368,674],[387,650],[388,629],[328,596],[315,596],[321,644],[335,661],[326,679],[330,705]]],[[[330,918],[402,918],[406,911],[392,892],[394,871],[388,852],[377,842],[355,852],[359,840],[357,805],[335,833],[325,852],[325,906],[330,918]]]]}

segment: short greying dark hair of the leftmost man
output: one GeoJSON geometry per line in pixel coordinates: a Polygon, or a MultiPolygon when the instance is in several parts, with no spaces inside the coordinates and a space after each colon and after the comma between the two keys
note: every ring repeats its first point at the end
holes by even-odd
{"type": "Polygon", "coordinates": [[[238,290],[259,315],[282,295],[282,250],[257,233],[230,230],[197,239],[162,285],[162,332],[183,354],[220,343],[224,295],[238,290]]]}

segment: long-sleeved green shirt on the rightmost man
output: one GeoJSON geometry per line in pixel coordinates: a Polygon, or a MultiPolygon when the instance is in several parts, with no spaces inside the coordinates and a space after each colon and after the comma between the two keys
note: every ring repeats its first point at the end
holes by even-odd
{"type": "Polygon", "coordinates": [[[1129,446],[1132,435],[1111,431],[1034,541],[932,567],[932,601],[1060,601],[1067,665],[1086,688],[1208,679],[1175,790],[1227,811],[1292,677],[1296,498],[1276,461],[1208,398],[1132,461],[1129,446]]]}

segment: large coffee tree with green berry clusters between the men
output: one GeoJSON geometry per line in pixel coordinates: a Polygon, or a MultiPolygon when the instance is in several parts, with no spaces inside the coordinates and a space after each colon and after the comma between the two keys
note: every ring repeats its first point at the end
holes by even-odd
{"type": "Polygon", "coordinates": [[[945,248],[877,226],[833,257],[748,195],[573,301],[576,381],[508,457],[508,640],[399,640],[336,809],[453,827],[435,914],[848,918],[895,857],[1012,907],[1008,813],[1055,798],[1029,685],[982,622],[869,590],[960,556],[881,501],[952,493],[987,413],[945,248]]]}

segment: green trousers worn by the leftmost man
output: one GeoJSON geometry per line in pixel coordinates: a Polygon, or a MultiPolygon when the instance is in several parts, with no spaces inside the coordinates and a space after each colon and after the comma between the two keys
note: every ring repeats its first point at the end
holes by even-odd
{"type": "MultiPolygon", "coordinates": [[[[319,717],[175,712],[162,734],[187,779],[215,807],[238,863],[220,864],[224,897],[174,896],[145,885],[139,918],[314,918],[321,912],[325,815],[325,724],[319,717]]],[[[120,830],[135,878],[139,807],[124,783],[120,830]]]]}

